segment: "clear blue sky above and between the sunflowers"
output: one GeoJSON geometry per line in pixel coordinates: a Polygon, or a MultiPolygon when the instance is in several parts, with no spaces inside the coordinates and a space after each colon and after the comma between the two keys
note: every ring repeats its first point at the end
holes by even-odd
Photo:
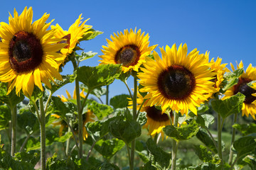
{"type": "MultiPolygon", "coordinates": [[[[14,8],[21,13],[25,6],[33,7],[33,21],[43,13],[50,13],[64,30],[75,22],[80,13],[95,30],[104,33],[94,40],[82,42],[85,51],[98,52],[106,45],[106,38],[124,29],[142,29],[150,35],[150,45],[159,47],[187,43],[188,52],[197,48],[201,53],[210,51],[210,58],[221,57],[223,63],[242,60],[247,67],[256,66],[256,1],[1,1],[1,21],[8,22],[14,8]]],[[[81,65],[96,66],[99,57],[81,65]]],[[[71,64],[63,74],[71,74],[71,64]]],[[[129,80],[132,88],[132,79],[129,80]]],[[[74,84],[64,86],[57,94],[73,92],[74,84]]],[[[110,97],[128,94],[124,84],[114,81],[110,97]]]]}

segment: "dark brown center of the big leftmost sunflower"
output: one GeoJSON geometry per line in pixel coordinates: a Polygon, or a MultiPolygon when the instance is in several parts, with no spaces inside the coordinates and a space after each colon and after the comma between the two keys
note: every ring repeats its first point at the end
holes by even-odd
{"type": "Polygon", "coordinates": [[[43,47],[40,40],[26,31],[19,31],[9,42],[9,61],[15,72],[29,72],[43,58],[43,47]]]}

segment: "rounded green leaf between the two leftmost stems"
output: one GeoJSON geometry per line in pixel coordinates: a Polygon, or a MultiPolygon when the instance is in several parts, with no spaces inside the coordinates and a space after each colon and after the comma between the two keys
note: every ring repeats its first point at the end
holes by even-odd
{"type": "Polygon", "coordinates": [[[21,109],[17,115],[18,126],[30,134],[39,130],[39,123],[36,115],[26,109],[21,109]]]}

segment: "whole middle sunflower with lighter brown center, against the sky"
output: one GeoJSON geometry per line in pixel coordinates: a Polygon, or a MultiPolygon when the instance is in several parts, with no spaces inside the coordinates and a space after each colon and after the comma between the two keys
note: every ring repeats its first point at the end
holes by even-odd
{"type": "Polygon", "coordinates": [[[130,69],[138,72],[140,65],[145,62],[146,55],[149,55],[157,45],[149,46],[149,34],[144,35],[141,30],[136,33],[136,28],[133,31],[124,30],[114,37],[110,36],[111,40],[107,40],[107,47],[102,46],[104,55],[100,64],[122,64],[122,71],[128,72],[130,69]]]}

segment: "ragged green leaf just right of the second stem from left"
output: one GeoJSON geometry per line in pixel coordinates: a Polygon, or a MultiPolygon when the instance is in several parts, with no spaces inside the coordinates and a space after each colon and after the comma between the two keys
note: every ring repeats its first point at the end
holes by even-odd
{"type": "Polygon", "coordinates": [[[52,96],[52,102],[48,108],[48,113],[54,113],[60,115],[61,117],[65,117],[66,113],[74,113],[77,111],[77,106],[71,102],[63,102],[59,97],[52,96]]]}

